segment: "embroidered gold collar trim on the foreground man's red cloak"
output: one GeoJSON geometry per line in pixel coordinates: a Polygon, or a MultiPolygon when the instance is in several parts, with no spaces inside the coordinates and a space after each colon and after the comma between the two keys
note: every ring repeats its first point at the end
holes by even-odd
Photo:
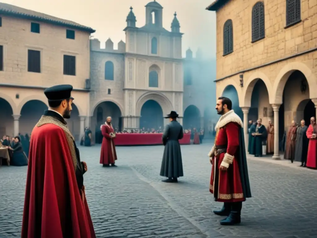
{"type": "Polygon", "coordinates": [[[36,126],[40,127],[40,126],[45,125],[45,124],[54,124],[54,125],[59,126],[61,129],[64,130],[65,135],[66,135],[66,139],[68,142],[68,146],[70,149],[70,153],[71,153],[71,156],[73,159],[74,169],[76,170],[77,156],[76,156],[76,151],[75,151],[75,147],[74,147],[75,139],[74,139],[74,136],[72,135],[72,133],[70,133],[68,127],[53,116],[42,116],[41,119],[37,122],[36,126]]]}

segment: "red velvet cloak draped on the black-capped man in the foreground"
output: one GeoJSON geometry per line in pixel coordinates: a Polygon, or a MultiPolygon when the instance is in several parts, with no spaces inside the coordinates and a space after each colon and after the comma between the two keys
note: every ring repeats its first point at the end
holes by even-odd
{"type": "Polygon", "coordinates": [[[35,237],[96,237],[66,134],[55,124],[35,126],[30,141],[22,238],[35,237]]]}

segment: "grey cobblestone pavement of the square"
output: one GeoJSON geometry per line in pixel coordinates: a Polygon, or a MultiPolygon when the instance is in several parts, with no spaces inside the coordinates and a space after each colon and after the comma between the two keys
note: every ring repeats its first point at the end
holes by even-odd
{"type": "MultiPolygon", "coordinates": [[[[182,146],[184,177],[160,182],[163,146],[117,147],[117,168],[99,164],[100,146],[80,147],[97,237],[316,237],[317,171],[298,163],[248,160],[253,198],[242,223],[221,227],[209,193],[211,142],[182,146]]],[[[0,167],[0,238],[20,236],[27,167],[0,167]]]]}

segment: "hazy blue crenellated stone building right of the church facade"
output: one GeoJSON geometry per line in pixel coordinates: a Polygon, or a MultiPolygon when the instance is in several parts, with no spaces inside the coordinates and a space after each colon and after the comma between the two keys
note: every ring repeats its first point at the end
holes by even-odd
{"type": "Polygon", "coordinates": [[[216,61],[204,59],[200,49],[193,57],[191,49],[183,59],[184,70],[184,128],[204,128],[213,131],[217,123],[216,61]]]}

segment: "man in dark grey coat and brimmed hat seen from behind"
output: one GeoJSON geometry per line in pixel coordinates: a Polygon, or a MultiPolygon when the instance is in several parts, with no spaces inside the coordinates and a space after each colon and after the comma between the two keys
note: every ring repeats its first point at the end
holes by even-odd
{"type": "Polygon", "coordinates": [[[182,154],[178,140],[184,136],[183,127],[176,121],[178,114],[171,111],[165,118],[170,118],[170,123],[164,128],[162,140],[164,154],[161,166],[161,176],[167,177],[163,182],[178,182],[177,178],[183,175],[182,154]]]}

